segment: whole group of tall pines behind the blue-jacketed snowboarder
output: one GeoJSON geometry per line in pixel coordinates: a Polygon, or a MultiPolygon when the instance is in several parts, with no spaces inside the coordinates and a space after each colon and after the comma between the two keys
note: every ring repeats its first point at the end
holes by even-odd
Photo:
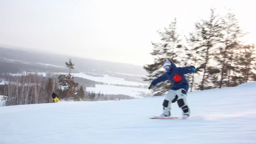
{"type": "MultiPolygon", "coordinates": [[[[144,69],[151,82],[165,71],[163,63],[168,59],[177,66],[196,67],[195,74],[188,74],[190,91],[233,87],[256,81],[255,44],[244,45],[240,38],[246,35],[238,24],[234,13],[225,16],[210,9],[208,20],[198,20],[194,31],[181,38],[177,32],[177,21],[158,30],[160,42],[153,43],[153,64],[144,69]]],[[[171,89],[171,82],[162,82],[153,88],[154,95],[164,95],[171,89]]]]}

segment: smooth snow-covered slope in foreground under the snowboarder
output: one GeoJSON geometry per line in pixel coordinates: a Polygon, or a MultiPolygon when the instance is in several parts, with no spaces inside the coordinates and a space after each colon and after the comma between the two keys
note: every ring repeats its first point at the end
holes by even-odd
{"type": "Polygon", "coordinates": [[[256,82],[188,93],[190,120],[149,119],[163,99],[0,107],[0,144],[256,143],[256,82]]]}

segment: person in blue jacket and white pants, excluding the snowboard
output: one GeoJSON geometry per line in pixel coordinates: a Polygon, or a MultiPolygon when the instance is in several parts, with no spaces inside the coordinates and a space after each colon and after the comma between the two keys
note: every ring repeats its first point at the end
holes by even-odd
{"type": "Polygon", "coordinates": [[[164,98],[163,114],[160,117],[170,117],[171,116],[171,103],[177,101],[179,108],[181,108],[182,118],[188,118],[190,115],[190,109],[187,106],[187,91],[189,84],[184,74],[195,73],[195,67],[193,65],[186,67],[177,67],[173,62],[167,60],[164,62],[164,69],[166,72],[154,79],[148,89],[157,85],[160,82],[170,80],[173,82],[173,86],[169,92],[167,92],[164,98]]]}

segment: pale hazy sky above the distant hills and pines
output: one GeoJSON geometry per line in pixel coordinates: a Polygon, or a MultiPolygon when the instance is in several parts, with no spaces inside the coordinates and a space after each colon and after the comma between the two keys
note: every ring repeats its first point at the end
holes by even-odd
{"type": "Polygon", "coordinates": [[[255,43],[255,0],[0,0],[0,46],[145,65],[157,30],[177,18],[180,34],[227,7],[255,43]]]}

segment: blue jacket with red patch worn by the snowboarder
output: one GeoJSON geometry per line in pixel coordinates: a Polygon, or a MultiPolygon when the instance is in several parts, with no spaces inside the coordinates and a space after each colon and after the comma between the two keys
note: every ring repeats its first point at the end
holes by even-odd
{"type": "Polygon", "coordinates": [[[191,73],[191,69],[189,66],[186,67],[177,67],[173,62],[171,62],[171,71],[165,72],[163,75],[159,76],[157,79],[154,79],[151,82],[151,85],[157,85],[160,82],[164,82],[170,80],[173,82],[173,86],[171,90],[178,90],[184,88],[188,91],[189,84],[184,74],[191,73]]]}

